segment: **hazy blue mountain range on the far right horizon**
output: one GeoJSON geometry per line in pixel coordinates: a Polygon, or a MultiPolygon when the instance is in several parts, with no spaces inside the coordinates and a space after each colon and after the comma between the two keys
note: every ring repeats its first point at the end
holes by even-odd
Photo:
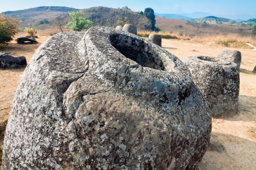
{"type": "Polygon", "coordinates": [[[163,13],[156,13],[156,16],[159,17],[166,17],[166,18],[176,18],[176,19],[185,19],[185,20],[191,20],[191,18],[204,18],[208,16],[216,16],[216,17],[221,17],[221,18],[229,18],[235,21],[245,21],[250,18],[256,18],[256,16],[253,15],[248,15],[248,14],[241,14],[241,15],[217,15],[217,14],[210,14],[206,12],[193,12],[190,14],[187,13],[176,13],[176,14],[163,14],[163,13]]]}

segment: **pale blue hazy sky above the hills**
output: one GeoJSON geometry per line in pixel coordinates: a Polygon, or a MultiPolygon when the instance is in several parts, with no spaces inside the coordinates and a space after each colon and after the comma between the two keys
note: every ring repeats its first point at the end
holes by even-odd
{"type": "Polygon", "coordinates": [[[145,8],[151,7],[157,13],[207,12],[219,15],[256,16],[256,0],[0,0],[0,12],[38,6],[66,6],[77,9],[128,6],[132,11],[144,11],[145,8]]]}

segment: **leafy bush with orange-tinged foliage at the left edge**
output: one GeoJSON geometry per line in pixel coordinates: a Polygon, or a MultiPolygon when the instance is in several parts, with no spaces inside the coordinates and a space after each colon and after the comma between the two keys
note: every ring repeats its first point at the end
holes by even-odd
{"type": "Polygon", "coordinates": [[[20,31],[18,26],[21,22],[19,17],[14,19],[3,13],[0,14],[0,46],[7,46],[8,42],[13,40],[14,35],[20,31]]]}

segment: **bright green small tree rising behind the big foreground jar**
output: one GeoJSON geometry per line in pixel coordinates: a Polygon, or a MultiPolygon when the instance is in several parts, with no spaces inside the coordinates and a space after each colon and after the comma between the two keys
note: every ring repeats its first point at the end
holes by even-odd
{"type": "Polygon", "coordinates": [[[90,20],[85,20],[82,16],[84,14],[83,11],[72,11],[68,12],[71,17],[71,20],[66,25],[66,28],[70,28],[74,31],[81,31],[84,28],[87,28],[88,25],[93,24],[90,20]]]}

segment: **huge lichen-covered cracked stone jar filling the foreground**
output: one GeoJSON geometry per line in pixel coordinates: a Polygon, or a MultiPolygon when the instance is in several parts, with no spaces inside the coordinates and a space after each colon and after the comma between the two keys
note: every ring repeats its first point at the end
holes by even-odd
{"type": "Polygon", "coordinates": [[[108,27],[42,44],[15,93],[3,170],[192,169],[211,116],[187,66],[108,27]]]}

